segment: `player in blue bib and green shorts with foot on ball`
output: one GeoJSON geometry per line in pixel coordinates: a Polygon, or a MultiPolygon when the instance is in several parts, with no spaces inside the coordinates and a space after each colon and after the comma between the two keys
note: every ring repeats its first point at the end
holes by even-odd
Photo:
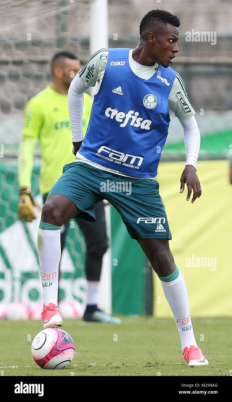
{"type": "MultiPolygon", "coordinates": [[[[200,133],[195,111],[182,78],[169,67],[179,51],[179,26],[177,16],[164,10],[149,11],[141,20],[135,49],[97,51],[72,81],[68,101],[76,160],[64,167],[64,174],[49,192],[38,230],[38,254],[42,272],[57,271],[63,223],[77,214],[94,220],[94,205],[107,199],[161,280],[180,334],[182,358],[192,366],[207,365],[208,361],[196,343],[186,283],[169,249],[171,233],[159,183],[154,179],[171,109],[184,129],[186,147],[180,193],[186,184],[187,201],[192,191],[192,203],[201,195],[196,174],[200,133]],[[83,92],[95,83],[91,118],[82,141],[83,92]],[[131,195],[102,192],[107,180],[131,183],[131,195]]],[[[53,326],[59,321],[56,307],[53,326]]]]}

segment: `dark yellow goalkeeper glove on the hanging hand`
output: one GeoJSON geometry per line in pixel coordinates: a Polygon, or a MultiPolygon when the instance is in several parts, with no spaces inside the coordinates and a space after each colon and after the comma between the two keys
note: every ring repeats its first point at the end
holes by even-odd
{"type": "Polygon", "coordinates": [[[27,187],[20,187],[19,194],[18,217],[25,222],[32,222],[32,219],[36,219],[34,207],[40,209],[40,206],[36,203],[27,187]]]}

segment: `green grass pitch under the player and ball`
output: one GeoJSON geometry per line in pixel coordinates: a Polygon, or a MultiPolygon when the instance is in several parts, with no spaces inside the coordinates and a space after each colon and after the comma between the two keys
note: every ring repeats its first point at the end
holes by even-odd
{"type": "Polygon", "coordinates": [[[198,346],[209,366],[189,367],[182,360],[173,319],[122,317],[123,323],[64,320],[76,353],[63,370],[42,370],[30,347],[42,321],[0,322],[0,373],[44,376],[228,376],[232,371],[231,318],[193,318],[198,346]],[[200,341],[200,338],[204,341],[200,341]],[[2,371],[3,370],[3,371],[2,371]]]}

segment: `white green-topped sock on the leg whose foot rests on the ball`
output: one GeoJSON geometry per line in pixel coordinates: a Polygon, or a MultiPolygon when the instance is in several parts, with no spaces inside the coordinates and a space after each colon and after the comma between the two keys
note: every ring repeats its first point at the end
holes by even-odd
{"type": "Polygon", "coordinates": [[[38,229],[38,257],[44,293],[44,305],[58,306],[58,277],[61,259],[61,226],[40,221],[38,229]]]}

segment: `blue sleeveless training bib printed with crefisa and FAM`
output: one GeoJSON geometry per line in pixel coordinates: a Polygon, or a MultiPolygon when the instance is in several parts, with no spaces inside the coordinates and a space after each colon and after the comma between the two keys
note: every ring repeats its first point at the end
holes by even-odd
{"type": "Polygon", "coordinates": [[[109,49],[99,92],[79,152],[98,164],[136,177],[157,174],[169,127],[168,97],[176,78],[159,66],[149,80],[129,66],[130,49],[109,49]]]}

